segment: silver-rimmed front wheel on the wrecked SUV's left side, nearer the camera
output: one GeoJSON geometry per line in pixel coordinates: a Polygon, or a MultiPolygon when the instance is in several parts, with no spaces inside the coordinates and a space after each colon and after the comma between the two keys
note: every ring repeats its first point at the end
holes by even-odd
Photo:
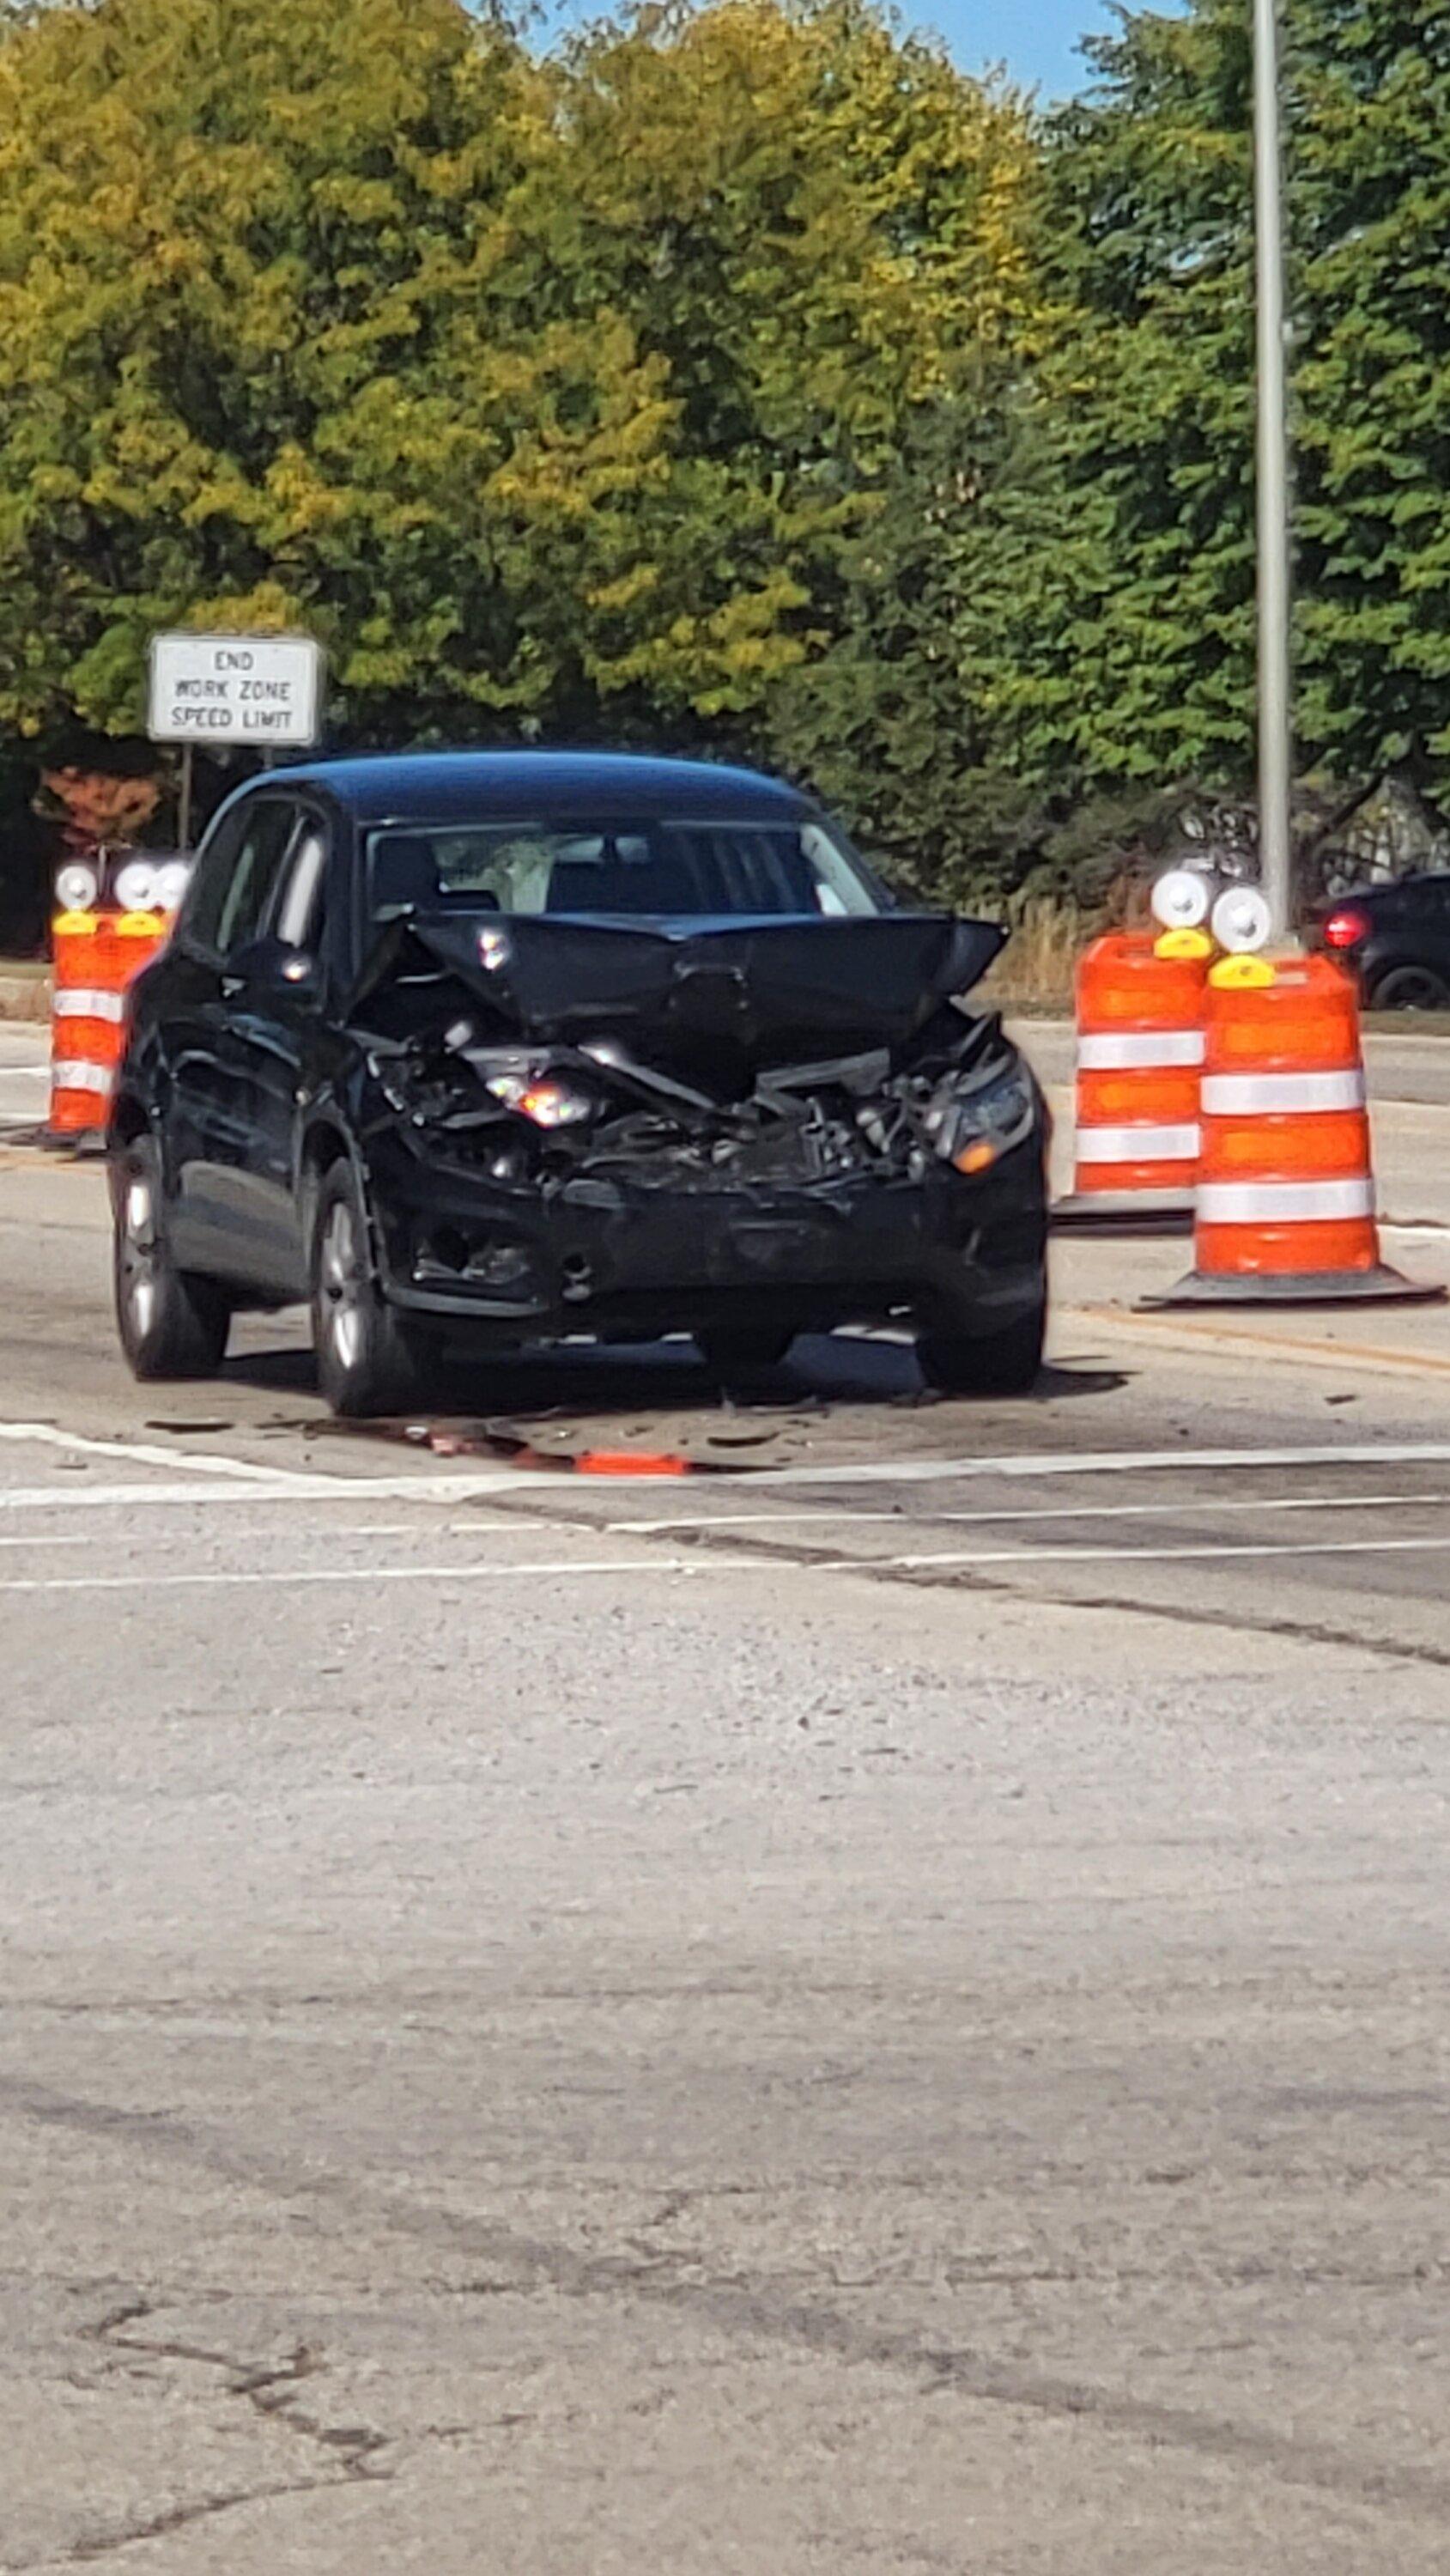
{"type": "Polygon", "coordinates": [[[348,1162],[317,1193],[312,1229],[312,1347],[317,1386],[348,1422],[410,1412],[428,1386],[425,1340],[386,1303],[368,1244],[368,1211],[348,1162]]]}

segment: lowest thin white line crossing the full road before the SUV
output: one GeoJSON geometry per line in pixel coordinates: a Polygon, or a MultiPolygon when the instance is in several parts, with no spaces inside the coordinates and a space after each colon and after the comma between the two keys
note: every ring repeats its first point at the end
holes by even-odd
{"type": "MultiPolygon", "coordinates": [[[[919,1556],[816,1556],[791,1566],[788,1558],[767,1558],[796,1574],[922,1574],[930,1566],[1046,1566],[1046,1564],[1185,1564],[1208,1558],[1272,1558],[1272,1556],[1442,1556],[1450,1538],[1295,1538],[1295,1540],[1239,1540],[1185,1548],[976,1548],[932,1551],[919,1556]]],[[[247,1569],[242,1574],[36,1574],[3,1577],[0,1592],[219,1592],[229,1587],[273,1584],[291,1589],[299,1584],[464,1584],[464,1582],[574,1582],[585,1574],[760,1574],[762,1558],[752,1556],[564,1556],[551,1564],[453,1564],[453,1566],[283,1566],[276,1574],[247,1569]]]]}

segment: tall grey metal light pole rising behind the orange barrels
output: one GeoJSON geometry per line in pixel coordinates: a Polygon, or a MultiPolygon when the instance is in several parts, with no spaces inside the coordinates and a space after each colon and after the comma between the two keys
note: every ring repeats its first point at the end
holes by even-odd
{"type": "Polygon", "coordinates": [[[1293,935],[1290,533],[1277,0],[1254,0],[1254,268],[1259,379],[1259,876],[1272,938],[1293,935]]]}

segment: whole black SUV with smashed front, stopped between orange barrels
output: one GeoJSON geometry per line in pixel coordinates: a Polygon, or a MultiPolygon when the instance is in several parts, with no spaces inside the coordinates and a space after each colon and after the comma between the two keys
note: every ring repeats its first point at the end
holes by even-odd
{"type": "Polygon", "coordinates": [[[312,1301],[343,1414],[443,1345],[693,1332],[716,1370],[912,1316],[1025,1388],[1046,1113],[961,994],[981,922],[899,909],[773,778],[672,760],[330,760],[216,814],[131,989],[111,1113],[139,1378],[312,1301]]]}

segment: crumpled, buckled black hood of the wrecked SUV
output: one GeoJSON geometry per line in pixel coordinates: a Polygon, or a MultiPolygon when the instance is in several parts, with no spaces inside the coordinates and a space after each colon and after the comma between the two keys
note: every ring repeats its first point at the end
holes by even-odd
{"type": "Polygon", "coordinates": [[[994,922],[914,912],[649,925],[458,912],[407,927],[520,1038],[634,1028],[667,1051],[724,1041],[749,1064],[901,1046],[1007,938],[994,922]]]}

